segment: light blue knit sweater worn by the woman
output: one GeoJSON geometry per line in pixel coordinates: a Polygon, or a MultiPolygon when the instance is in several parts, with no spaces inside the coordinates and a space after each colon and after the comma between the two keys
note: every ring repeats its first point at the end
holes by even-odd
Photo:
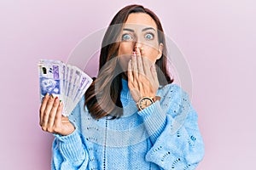
{"type": "Polygon", "coordinates": [[[195,169],[204,144],[188,94],[169,84],[158,90],[160,101],[137,111],[127,82],[122,83],[124,116],[94,120],[81,99],[69,116],[76,130],[55,134],[52,169],[195,169]]]}

